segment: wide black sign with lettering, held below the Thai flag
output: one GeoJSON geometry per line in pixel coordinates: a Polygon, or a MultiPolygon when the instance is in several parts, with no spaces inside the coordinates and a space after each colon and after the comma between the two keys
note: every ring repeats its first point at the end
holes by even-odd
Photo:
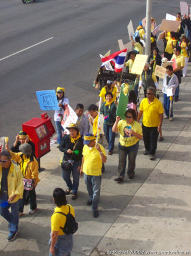
{"type": "Polygon", "coordinates": [[[115,71],[109,71],[109,70],[101,70],[100,78],[103,80],[110,80],[110,81],[116,80],[117,82],[120,82],[120,79],[121,79],[121,83],[134,84],[136,75],[123,72],[122,78],[121,78],[121,73],[116,73],[115,71]]]}

